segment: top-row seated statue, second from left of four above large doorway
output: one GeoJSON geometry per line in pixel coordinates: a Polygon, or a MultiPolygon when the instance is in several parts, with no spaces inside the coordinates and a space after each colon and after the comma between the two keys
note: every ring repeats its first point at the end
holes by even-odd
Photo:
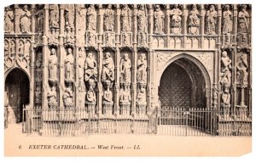
{"type": "Polygon", "coordinates": [[[172,8],[170,15],[171,15],[171,32],[173,34],[180,34],[181,27],[182,27],[182,11],[178,8],[177,4],[174,4],[174,8],[172,8]]]}

